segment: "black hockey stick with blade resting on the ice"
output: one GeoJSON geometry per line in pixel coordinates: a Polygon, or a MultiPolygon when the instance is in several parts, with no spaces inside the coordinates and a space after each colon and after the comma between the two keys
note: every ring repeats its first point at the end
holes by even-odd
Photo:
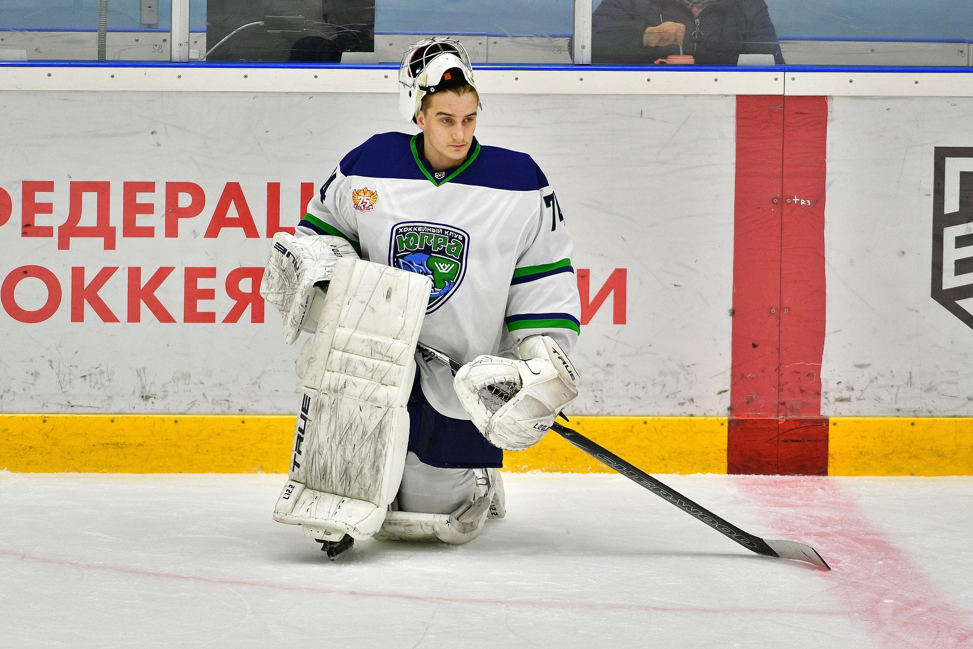
{"type": "MultiPolygon", "coordinates": [[[[462,367],[459,363],[452,360],[449,356],[438,349],[433,349],[432,347],[422,343],[418,343],[418,348],[419,351],[421,351],[424,355],[429,356],[433,360],[449,367],[453,374],[455,374],[456,370],[462,367]]],[[[675,489],[667,487],[641,469],[631,465],[629,462],[625,461],[615,453],[595,444],[595,442],[591,441],[578,431],[572,430],[567,426],[563,426],[557,421],[551,426],[551,430],[558,433],[571,445],[587,452],[589,455],[595,457],[595,459],[598,461],[619,472],[633,483],[647,488],[657,496],[667,500],[687,514],[690,514],[699,521],[706,523],[724,536],[733,539],[751,552],[758,555],[764,555],[765,557],[808,561],[809,563],[813,563],[814,565],[824,568],[825,570],[831,569],[831,566],[829,566],[824,559],[821,559],[821,556],[817,554],[817,551],[811,548],[810,545],[798,543],[797,541],[763,539],[754,534],[750,534],[749,532],[745,532],[737,525],[728,523],[724,519],[721,519],[686,496],[682,495],[675,489]]]]}

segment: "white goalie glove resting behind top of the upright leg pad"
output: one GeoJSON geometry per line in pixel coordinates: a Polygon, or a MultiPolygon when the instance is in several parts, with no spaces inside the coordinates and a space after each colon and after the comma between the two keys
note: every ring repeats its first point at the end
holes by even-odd
{"type": "Polygon", "coordinates": [[[260,294],[284,317],[284,342],[294,343],[301,330],[317,331],[315,296],[323,293],[314,285],[331,279],[335,264],[342,258],[358,259],[351,244],[340,236],[273,235],[267,269],[260,282],[260,294]]]}

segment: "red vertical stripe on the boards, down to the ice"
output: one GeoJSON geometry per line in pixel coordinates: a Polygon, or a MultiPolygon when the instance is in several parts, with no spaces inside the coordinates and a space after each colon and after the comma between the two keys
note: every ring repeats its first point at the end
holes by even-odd
{"type": "Polygon", "coordinates": [[[729,473],[827,474],[827,110],[826,97],[737,99],[729,473]]]}

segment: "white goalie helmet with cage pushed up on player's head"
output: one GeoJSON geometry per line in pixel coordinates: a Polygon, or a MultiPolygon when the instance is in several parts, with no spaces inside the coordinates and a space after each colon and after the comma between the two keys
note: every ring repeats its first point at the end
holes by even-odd
{"type": "Polygon", "coordinates": [[[467,83],[476,90],[473,67],[462,44],[437,36],[414,43],[402,55],[399,65],[399,111],[410,122],[427,92],[446,90],[467,83]]]}

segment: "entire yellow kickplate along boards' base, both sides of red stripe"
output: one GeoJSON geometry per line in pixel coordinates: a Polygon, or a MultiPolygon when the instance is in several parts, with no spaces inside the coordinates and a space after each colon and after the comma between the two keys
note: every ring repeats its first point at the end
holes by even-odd
{"type": "MultiPolygon", "coordinates": [[[[293,415],[0,415],[0,470],[286,473],[293,415]]],[[[973,418],[832,417],[833,476],[973,475],[973,418]]],[[[577,416],[567,424],[648,473],[726,473],[724,417],[577,416]]],[[[507,471],[611,473],[549,433],[507,471]]]]}

